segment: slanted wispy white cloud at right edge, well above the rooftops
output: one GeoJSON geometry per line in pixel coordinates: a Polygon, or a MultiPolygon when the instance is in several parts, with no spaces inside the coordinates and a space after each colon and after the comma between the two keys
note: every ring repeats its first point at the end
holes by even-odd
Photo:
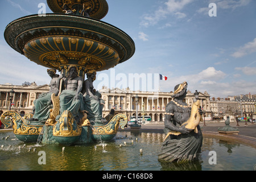
{"type": "Polygon", "coordinates": [[[234,52],[231,56],[238,58],[253,52],[256,52],[256,38],[252,42],[248,42],[244,46],[238,48],[238,50],[234,52]]]}

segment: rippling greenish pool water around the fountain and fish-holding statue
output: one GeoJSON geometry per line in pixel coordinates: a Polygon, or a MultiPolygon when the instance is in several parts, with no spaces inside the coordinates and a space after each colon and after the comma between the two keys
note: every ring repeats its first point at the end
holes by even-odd
{"type": "Polygon", "coordinates": [[[204,138],[200,158],[193,163],[161,163],[158,154],[164,137],[120,131],[111,142],[65,146],[62,151],[58,144],[24,145],[13,133],[0,133],[0,170],[253,170],[256,164],[255,148],[216,138],[204,138]],[[30,147],[36,152],[28,151],[30,147]],[[46,152],[46,165],[38,164],[39,151],[46,152]],[[216,151],[216,165],[209,164],[209,151],[216,151]]]}

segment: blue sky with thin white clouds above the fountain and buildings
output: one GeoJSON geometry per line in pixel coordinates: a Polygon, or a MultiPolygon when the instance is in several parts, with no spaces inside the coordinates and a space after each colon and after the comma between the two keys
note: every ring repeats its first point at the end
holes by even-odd
{"type": "MultiPolygon", "coordinates": [[[[20,85],[50,81],[46,69],[11,49],[3,32],[21,16],[38,14],[46,0],[2,0],[0,24],[0,84],[20,85]]],[[[107,0],[109,12],[102,20],[125,31],[135,42],[130,60],[118,64],[122,73],[160,73],[160,91],[188,82],[191,92],[207,91],[211,97],[256,94],[255,0],[107,0]],[[210,17],[210,3],[217,16],[210,17]]],[[[46,9],[46,13],[52,13],[46,9]]],[[[115,77],[110,70],[99,72],[115,77]]],[[[96,80],[94,87],[100,84],[96,80]]],[[[116,81],[118,82],[118,81],[116,81]]],[[[106,85],[109,86],[110,85],[106,85]]]]}

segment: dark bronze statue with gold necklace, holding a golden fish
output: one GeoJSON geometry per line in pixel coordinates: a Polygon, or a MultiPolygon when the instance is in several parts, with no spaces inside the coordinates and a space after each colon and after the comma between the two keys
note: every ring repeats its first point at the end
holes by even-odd
{"type": "Polygon", "coordinates": [[[187,82],[176,85],[174,100],[166,106],[164,116],[164,133],[166,138],[162,144],[159,160],[166,162],[191,162],[198,158],[203,142],[200,130],[201,121],[200,101],[197,100],[189,107],[183,99],[187,94],[187,82]]]}

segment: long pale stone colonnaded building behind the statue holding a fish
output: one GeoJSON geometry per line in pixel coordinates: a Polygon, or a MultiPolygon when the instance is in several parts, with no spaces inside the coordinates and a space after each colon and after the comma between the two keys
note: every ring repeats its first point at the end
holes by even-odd
{"type": "MultiPolygon", "coordinates": [[[[103,87],[99,90],[102,94],[102,99],[105,101],[103,108],[103,117],[109,114],[110,109],[115,109],[115,113],[123,113],[130,118],[136,114],[136,101],[135,96],[138,95],[138,115],[142,115],[144,109],[144,115],[150,115],[151,121],[164,121],[164,113],[166,113],[165,107],[168,102],[172,101],[172,92],[143,92],[132,91],[129,88],[126,89],[108,89],[103,87]]],[[[192,106],[194,93],[189,90],[185,102],[192,106]]],[[[210,101],[209,94],[207,92],[199,92],[199,100],[201,101],[201,107],[205,111],[205,115],[210,114],[210,101]]]]}

